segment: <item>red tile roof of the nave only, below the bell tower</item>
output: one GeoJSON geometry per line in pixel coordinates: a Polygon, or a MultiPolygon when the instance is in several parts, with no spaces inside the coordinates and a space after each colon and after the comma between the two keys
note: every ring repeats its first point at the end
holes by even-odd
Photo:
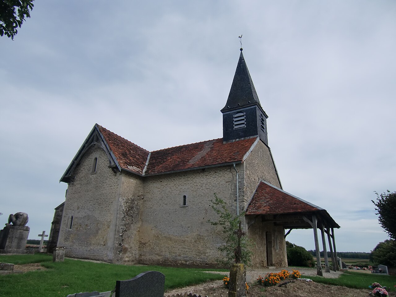
{"type": "Polygon", "coordinates": [[[242,162],[257,137],[223,143],[213,139],[151,152],[146,175],[242,162]]]}

